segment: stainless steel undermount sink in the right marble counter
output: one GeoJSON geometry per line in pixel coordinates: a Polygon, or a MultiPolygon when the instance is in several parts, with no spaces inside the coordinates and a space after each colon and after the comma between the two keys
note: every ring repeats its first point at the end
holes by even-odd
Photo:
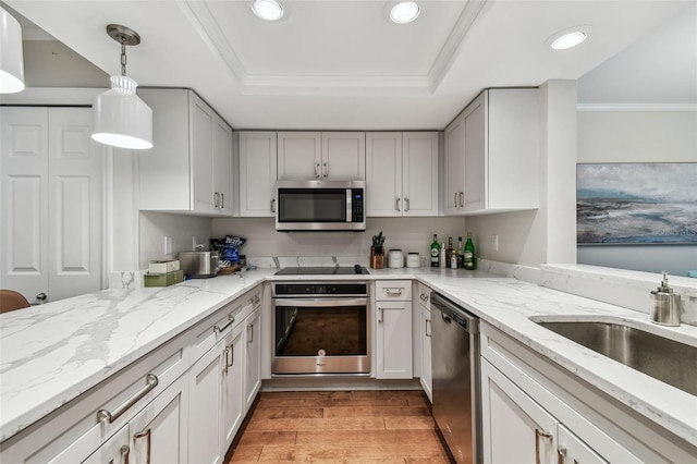
{"type": "Polygon", "coordinates": [[[697,395],[697,346],[619,323],[537,323],[647,376],[697,395]]]}

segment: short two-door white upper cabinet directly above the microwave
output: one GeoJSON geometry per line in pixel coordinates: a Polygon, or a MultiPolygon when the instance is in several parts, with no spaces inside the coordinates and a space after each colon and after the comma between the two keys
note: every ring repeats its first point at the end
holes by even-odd
{"type": "Polygon", "coordinates": [[[363,132],[279,132],[278,179],[365,179],[365,150],[363,132]]]}

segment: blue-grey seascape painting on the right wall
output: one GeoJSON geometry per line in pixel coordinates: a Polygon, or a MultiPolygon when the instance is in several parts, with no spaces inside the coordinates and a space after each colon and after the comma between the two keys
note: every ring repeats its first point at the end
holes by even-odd
{"type": "Polygon", "coordinates": [[[577,164],[578,245],[697,244],[697,163],[577,164]]]}

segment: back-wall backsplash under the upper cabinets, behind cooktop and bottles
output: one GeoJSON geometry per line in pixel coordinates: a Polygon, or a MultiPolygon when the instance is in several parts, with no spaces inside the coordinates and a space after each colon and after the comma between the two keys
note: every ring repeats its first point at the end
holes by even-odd
{"type": "Polygon", "coordinates": [[[368,218],[365,232],[277,232],[273,218],[213,219],[212,236],[225,234],[247,239],[240,253],[246,256],[348,256],[368,257],[371,237],[387,236],[386,249],[400,248],[430,256],[433,233],[457,242],[466,236],[463,218],[368,218]]]}

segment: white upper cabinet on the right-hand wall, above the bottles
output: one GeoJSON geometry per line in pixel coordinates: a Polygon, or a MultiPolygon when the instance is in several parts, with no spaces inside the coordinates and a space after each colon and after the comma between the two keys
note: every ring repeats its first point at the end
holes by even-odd
{"type": "Polygon", "coordinates": [[[536,88],[482,91],[445,129],[445,213],[539,207],[536,88]]]}

